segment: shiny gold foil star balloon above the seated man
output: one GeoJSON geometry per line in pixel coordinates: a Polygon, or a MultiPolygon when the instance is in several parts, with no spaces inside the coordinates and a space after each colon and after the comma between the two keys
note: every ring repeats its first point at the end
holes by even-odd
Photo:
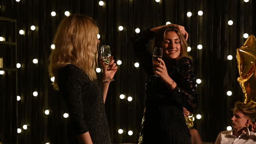
{"type": "Polygon", "coordinates": [[[256,104],[256,39],[254,35],[250,35],[236,53],[240,75],[237,81],[245,93],[245,103],[256,104]]]}

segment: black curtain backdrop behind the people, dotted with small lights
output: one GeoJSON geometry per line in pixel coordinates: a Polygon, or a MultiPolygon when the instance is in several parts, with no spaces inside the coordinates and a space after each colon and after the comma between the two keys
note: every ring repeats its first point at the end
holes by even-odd
{"type": "MultiPolygon", "coordinates": [[[[199,103],[195,128],[204,142],[214,142],[220,131],[231,125],[232,107],[243,101],[236,81],[236,49],[245,42],[244,33],[256,34],[256,1],[249,0],[1,0],[0,57],[0,141],[4,143],[69,142],[69,117],[58,91],[48,76],[48,57],[53,37],[65,11],[91,16],[100,29],[101,44],[110,45],[114,59],[121,60],[115,81],[110,84],[106,112],[113,143],[137,143],[146,94],[147,76],[132,49],[135,29],[165,25],[167,21],[185,27],[189,33],[189,55],[197,71],[199,103]],[[203,15],[197,15],[202,10],[203,15]],[[51,11],[56,16],[51,16],[51,11]],[[191,11],[192,16],[187,13],[191,11]],[[6,19],[9,18],[9,19],[6,19]],[[228,25],[232,20],[234,24],[228,25]],[[32,31],[31,26],[36,26],[32,31]],[[119,31],[118,27],[124,30],[119,31]],[[19,31],[23,29],[24,35],[19,31]],[[197,45],[202,45],[202,50],[197,45]],[[228,60],[231,55],[233,59],[228,60]],[[33,59],[38,59],[34,64],[33,59]],[[16,68],[16,63],[21,68],[16,68]],[[232,91],[228,96],[227,91],[232,91]],[[38,92],[37,97],[33,92],[38,92]],[[120,99],[119,95],[125,98],[120,99]],[[17,96],[21,100],[17,101],[17,96]],[[132,97],[132,101],[127,101],[132,97]],[[44,111],[49,110],[49,115],[44,111]],[[28,129],[22,128],[24,124],[28,129]],[[18,128],[21,133],[17,133],[18,128]],[[124,133],[119,134],[118,130],[124,133]],[[133,135],[128,135],[132,130],[133,135]]],[[[100,66],[99,66],[100,67],[100,66]]],[[[101,74],[98,73],[100,79],[101,74]]]]}

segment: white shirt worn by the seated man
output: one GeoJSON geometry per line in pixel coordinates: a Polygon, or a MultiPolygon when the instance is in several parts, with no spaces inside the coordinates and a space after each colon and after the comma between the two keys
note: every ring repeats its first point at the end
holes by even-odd
{"type": "Polygon", "coordinates": [[[233,135],[233,130],[219,133],[215,144],[256,144],[256,133],[247,129],[240,136],[233,135]]]}

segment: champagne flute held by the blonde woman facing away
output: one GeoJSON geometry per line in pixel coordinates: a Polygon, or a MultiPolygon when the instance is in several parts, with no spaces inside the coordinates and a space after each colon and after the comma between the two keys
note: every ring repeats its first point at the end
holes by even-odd
{"type": "MultiPolygon", "coordinates": [[[[110,51],[109,45],[101,46],[101,57],[103,59],[103,63],[107,66],[106,68],[108,70],[108,66],[111,61],[111,51],[110,51]]],[[[108,75],[108,77],[105,80],[103,80],[103,82],[109,82],[109,81],[114,81],[114,79],[110,79],[108,75]]]]}

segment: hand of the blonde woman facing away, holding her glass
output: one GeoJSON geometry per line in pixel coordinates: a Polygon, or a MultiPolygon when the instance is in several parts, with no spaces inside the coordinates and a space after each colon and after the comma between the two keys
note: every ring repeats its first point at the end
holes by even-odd
{"type": "Polygon", "coordinates": [[[101,58],[101,65],[103,69],[103,82],[114,81],[115,73],[117,72],[117,63],[115,63],[113,57],[110,58],[109,65],[103,62],[103,58],[101,58]]]}

